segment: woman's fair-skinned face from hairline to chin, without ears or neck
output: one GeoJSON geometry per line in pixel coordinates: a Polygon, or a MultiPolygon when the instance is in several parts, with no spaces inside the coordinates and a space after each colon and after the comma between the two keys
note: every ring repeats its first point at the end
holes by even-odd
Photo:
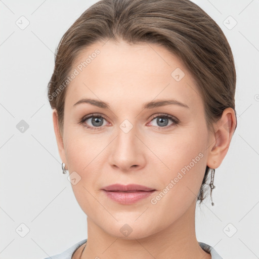
{"type": "Polygon", "coordinates": [[[121,238],[125,224],[133,230],[128,238],[174,224],[196,203],[209,150],[203,101],[191,74],[161,46],[122,41],[85,49],[74,69],[60,154],[82,210],[121,238]],[[112,184],[155,191],[137,192],[146,196],[135,201],[134,194],[117,192],[118,201],[103,190],[112,184]]]}

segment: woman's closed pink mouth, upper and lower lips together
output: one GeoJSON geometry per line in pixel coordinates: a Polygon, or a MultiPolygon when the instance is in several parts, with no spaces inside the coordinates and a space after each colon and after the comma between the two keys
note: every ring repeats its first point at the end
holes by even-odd
{"type": "Polygon", "coordinates": [[[141,199],[147,198],[154,191],[143,185],[120,185],[114,184],[106,186],[102,189],[107,197],[120,204],[133,204],[141,199]]]}

